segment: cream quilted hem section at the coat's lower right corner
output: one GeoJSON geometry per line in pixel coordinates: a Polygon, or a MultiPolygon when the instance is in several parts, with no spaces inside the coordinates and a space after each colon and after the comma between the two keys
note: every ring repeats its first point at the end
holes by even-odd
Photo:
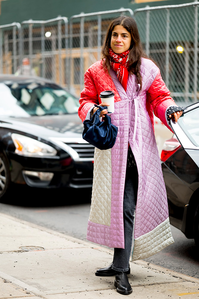
{"type": "Polygon", "coordinates": [[[135,239],[132,261],[152,256],[161,251],[162,246],[166,247],[173,243],[169,218],[167,218],[149,233],[135,239]]]}

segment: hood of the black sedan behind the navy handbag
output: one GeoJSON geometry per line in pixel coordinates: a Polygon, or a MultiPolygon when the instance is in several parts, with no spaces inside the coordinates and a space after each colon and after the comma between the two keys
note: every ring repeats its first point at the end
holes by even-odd
{"type": "Polygon", "coordinates": [[[41,138],[82,137],[83,123],[77,113],[31,116],[30,118],[0,117],[1,126],[41,138]]]}

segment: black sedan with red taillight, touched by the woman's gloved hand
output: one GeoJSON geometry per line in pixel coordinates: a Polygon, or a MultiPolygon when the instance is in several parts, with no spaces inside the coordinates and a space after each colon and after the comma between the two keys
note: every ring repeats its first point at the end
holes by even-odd
{"type": "Polygon", "coordinates": [[[162,171],[169,205],[169,219],[199,248],[199,103],[185,110],[175,133],[164,143],[162,171]]]}

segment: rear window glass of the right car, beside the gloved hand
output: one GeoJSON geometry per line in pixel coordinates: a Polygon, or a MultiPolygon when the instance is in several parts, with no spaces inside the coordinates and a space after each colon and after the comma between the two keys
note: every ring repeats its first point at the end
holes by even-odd
{"type": "Polygon", "coordinates": [[[179,119],[178,124],[181,129],[185,132],[190,141],[195,145],[199,146],[199,107],[187,111],[179,119]]]}

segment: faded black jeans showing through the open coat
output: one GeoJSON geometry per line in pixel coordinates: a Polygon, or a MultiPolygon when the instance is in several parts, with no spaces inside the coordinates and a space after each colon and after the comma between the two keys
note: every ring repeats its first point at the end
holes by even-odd
{"type": "Polygon", "coordinates": [[[129,259],[132,247],[134,211],[138,193],[138,170],[132,150],[129,147],[127,170],[124,185],[124,249],[114,248],[112,269],[125,272],[129,269],[129,259]]]}

